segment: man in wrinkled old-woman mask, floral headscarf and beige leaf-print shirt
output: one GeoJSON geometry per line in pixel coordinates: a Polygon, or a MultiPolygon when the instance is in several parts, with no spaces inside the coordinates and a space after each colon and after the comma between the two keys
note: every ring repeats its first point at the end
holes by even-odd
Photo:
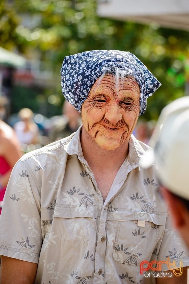
{"type": "Polygon", "coordinates": [[[147,283],[140,263],[165,262],[175,250],[175,263],[187,266],[188,251],[167,236],[154,168],[139,167],[149,147],[132,135],[160,83],[133,54],[114,50],[65,57],[61,75],[83,126],[15,166],[0,219],[2,283],[147,283]]]}

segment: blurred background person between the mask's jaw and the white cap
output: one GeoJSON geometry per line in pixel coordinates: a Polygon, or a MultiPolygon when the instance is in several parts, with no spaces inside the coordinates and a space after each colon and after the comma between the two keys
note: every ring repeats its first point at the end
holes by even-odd
{"type": "Polygon", "coordinates": [[[138,120],[135,128],[135,137],[137,140],[148,145],[149,142],[149,132],[148,132],[148,124],[145,120],[138,120]]]}

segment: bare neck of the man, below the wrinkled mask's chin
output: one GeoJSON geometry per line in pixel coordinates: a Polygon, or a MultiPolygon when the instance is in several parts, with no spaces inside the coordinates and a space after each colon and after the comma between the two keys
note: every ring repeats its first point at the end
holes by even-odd
{"type": "Polygon", "coordinates": [[[104,166],[106,168],[119,169],[129,153],[129,140],[126,140],[115,150],[105,150],[91,138],[84,127],[80,134],[80,140],[83,156],[91,169],[93,167],[101,169],[104,166]]]}

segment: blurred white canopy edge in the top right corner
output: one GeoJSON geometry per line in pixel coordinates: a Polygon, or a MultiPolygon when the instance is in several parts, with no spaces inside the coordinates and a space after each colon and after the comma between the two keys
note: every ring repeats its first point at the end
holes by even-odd
{"type": "Polygon", "coordinates": [[[97,14],[116,20],[189,30],[189,0],[101,0],[97,14]]]}

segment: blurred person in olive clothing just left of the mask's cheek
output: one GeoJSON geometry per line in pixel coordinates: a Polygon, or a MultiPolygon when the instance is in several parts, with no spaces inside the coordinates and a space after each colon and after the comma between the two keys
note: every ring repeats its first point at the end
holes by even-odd
{"type": "Polygon", "coordinates": [[[52,125],[52,130],[49,134],[51,141],[57,141],[65,138],[78,130],[82,124],[81,115],[75,107],[68,101],[64,101],[63,115],[55,117],[52,125]]]}

